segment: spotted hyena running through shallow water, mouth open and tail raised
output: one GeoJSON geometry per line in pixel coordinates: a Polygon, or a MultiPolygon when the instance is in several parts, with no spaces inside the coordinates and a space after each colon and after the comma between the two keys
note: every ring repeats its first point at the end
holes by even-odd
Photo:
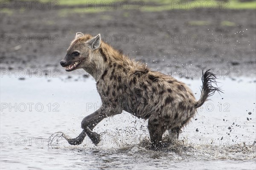
{"type": "Polygon", "coordinates": [[[195,116],[196,109],[215,91],[220,91],[212,86],[216,77],[207,70],[197,101],[183,82],[129,59],[102,41],[100,34],[93,37],[76,33],[60,63],[66,71],[82,68],[92,75],[102,100],[101,107],[81,122],[81,134],[75,139],[67,139],[73,145],[81,144],[86,135],[98,144],[100,136],[93,132],[93,128],[102,119],[127,111],[138,118],[148,119],[152,147],[159,147],[166,130],[178,138],[180,129],[195,116]]]}

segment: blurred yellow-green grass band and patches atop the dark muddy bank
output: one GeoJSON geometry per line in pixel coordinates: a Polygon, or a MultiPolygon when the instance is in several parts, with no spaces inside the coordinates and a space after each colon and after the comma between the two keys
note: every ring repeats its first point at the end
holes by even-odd
{"type": "MultiPolygon", "coordinates": [[[[0,0],[3,1],[3,0],[0,0]]],[[[48,4],[49,0],[40,0],[44,4],[48,4]]],[[[127,1],[127,0],[58,0],[52,1],[52,8],[55,6],[59,8],[58,14],[60,16],[66,16],[68,14],[73,13],[97,13],[104,11],[113,11],[115,7],[120,9],[121,3],[125,1],[123,7],[126,7],[126,3],[129,3],[127,9],[137,9],[142,12],[155,12],[155,11],[168,11],[168,10],[196,10],[202,8],[208,9],[221,9],[221,10],[229,10],[229,9],[256,9],[256,0],[241,2],[241,0],[137,0],[136,4],[134,4],[135,0],[127,1]],[[109,4],[111,6],[109,8],[109,4]],[[116,3],[116,4],[115,4],[116,3]],[[103,7],[99,5],[103,4],[103,7]],[[116,5],[116,6],[115,6],[116,5]],[[66,8],[67,7],[67,8],[66,8]],[[70,8],[72,7],[72,8],[70,8]]],[[[13,14],[14,9],[2,8],[0,9],[0,13],[6,13],[9,15],[13,14]]],[[[25,10],[26,11],[26,10],[25,10]]],[[[23,10],[20,12],[24,12],[23,10]]],[[[128,11],[124,11],[122,17],[129,17],[128,11]]],[[[191,25],[200,25],[205,23],[192,23],[191,25]]],[[[222,23],[223,26],[232,26],[231,23],[222,23]]]]}

